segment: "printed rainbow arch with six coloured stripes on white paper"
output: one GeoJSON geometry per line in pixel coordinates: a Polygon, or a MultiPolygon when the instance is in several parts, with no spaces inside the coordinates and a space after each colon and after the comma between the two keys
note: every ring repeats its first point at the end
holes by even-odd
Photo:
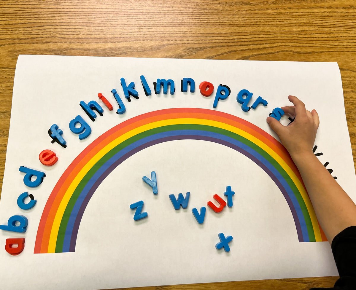
{"type": "Polygon", "coordinates": [[[177,139],[216,142],[245,154],[281,189],[299,241],[326,241],[298,169],[281,143],[239,117],[213,110],[177,108],[150,112],[121,123],[73,160],[47,200],[34,252],[74,252],[83,212],[101,181],[132,154],[177,139]]]}

